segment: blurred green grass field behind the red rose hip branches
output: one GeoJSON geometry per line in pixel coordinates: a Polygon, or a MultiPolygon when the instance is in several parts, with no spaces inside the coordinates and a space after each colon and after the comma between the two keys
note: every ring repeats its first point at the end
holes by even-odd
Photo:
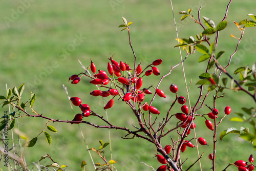
{"type": "MultiPolygon", "coordinates": [[[[180,61],[177,45],[173,14],[169,1],[2,1],[0,2],[0,23],[1,41],[0,41],[0,95],[5,95],[6,84],[8,88],[18,87],[25,83],[23,100],[30,97],[30,92],[36,93],[34,110],[47,117],[71,120],[74,113],[80,112],[80,109],[74,108],[72,111],[65,90],[62,84],[67,86],[69,96],[80,97],[84,103],[91,106],[91,110],[105,116],[103,102],[106,103],[109,98],[103,99],[90,96],[89,92],[95,89],[89,84],[89,79],[85,78],[77,85],[68,82],[68,78],[73,74],[83,72],[77,59],[84,66],[90,65],[90,58],[95,62],[97,69],[106,70],[106,63],[109,53],[114,55],[117,61],[123,60],[132,63],[134,57],[129,46],[127,32],[120,32],[118,26],[122,24],[121,17],[125,17],[131,25],[131,38],[138,60],[142,61],[142,67],[147,62],[162,58],[163,63],[159,66],[161,75],[167,74],[170,68],[180,61]],[[115,2],[115,4],[112,4],[115,2]]],[[[197,16],[197,10],[200,5],[201,16],[211,18],[218,24],[224,17],[228,1],[175,1],[174,13],[176,17],[179,36],[187,38],[190,35],[195,37],[200,34],[202,29],[192,20],[185,19],[180,21],[179,11],[187,11],[192,8],[193,14],[197,16]]],[[[229,56],[233,53],[237,45],[237,39],[230,37],[230,34],[240,37],[240,32],[233,24],[233,21],[240,22],[245,18],[249,19],[248,13],[255,11],[255,1],[233,1],[228,11],[228,26],[220,32],[219,46],[217,51],[224,50],[225,55],[220,62],[225,66],[229,56]]],[[[252,65],[255,62],[255,36],[254,28],[248,28],[245,31],[244,39],[241,42],[238,54],[233,57],[232,66],[228,71],[233,71],[241,66],[252,65]],[[249,43],[250,42],[250,43],[249,43]],[[248,46],[250,44],[250,46],[248,46]],[[249,47],[249,48],[248,48],[249,47]]],[[[213,41],[213,40],[212,40],[213,41]]],[[[183,52],[183,55],[185,53],[183,52]]],[[[206,61],[198,63],[198,53],[191,55],[184,62],[187,82],[190,80],[190,101],[195,104],[198,99],[199,90],[196,82],[198,75],[205,72],[206,61]]],[[[212,71],[213,73],[214,71],[212,71]]],[[[159,80],[160,77],[152,76],[145,79],[148,84],[153,80],[159,80]]],[[[160,111],[166,111],[175,96],[168,91],[169,84],[175,82],[179,86],[179,95],[186,96],[184,79],[181,66],[177,67],[172,75],[166,77],[159,87],[166,93],[166,99],[159,98],[155,102],[160,111]]],[[[154,81],[154,86],[157,82],[154,81]]],[[[244,94],[227,92],[227,98],[217,101],[219,109],[224,109],[226,105],[232,108],[234,112],[241,112],[243,106],[250,105],[250,99],[244,94]],[[227,101],[226,99],[232,99],[227,101]]],[[[204,91],[206,93],[206,89],[204,91]]],[[[210,94],[207,104],[212,105],[212,96],[210,94]]],[[[148,97],[146,100],[150,100],[148,97]]],[[[250,108],[250,106],[248,106],[250,108]]],[[[175,114],[180,109],[174,109],[175,114]]],[[[5,106],[0,114],[8,111],[5,106]]],[[[208,113],[206,108],[199,112],[208,113]]],[[[117,103],[115,108],[108,110],[108,117],[111,122],[117,126],[127,126],[133,129],[132,124],[136,124],[136,119],[130,117],[131,111],[121,102],[117,103]]],[[[235,123],[229,121],[228,116],[225,124],[220,124],[218,135],[228,127],[248,126],[245,123],[235,123]]],[[[99,123],[94,117],[86,120],[99,123]]],[[[200,123],[200,118],[196,123],[200,123]]],[[[36,137],[46,124],[46,120],[39,118],[23,117],[19,119],[19,130],[26,133],[30,139],[36,137]]],[[[202,120],[203,122],[203,120],[202,120]]],[[[53,123],[52,123],[53,124],[53,123]]],[[[175,123],[174,123],[175,124],[175,123]]],[[[81,170],[80,163],[86,160],[88,165],[86,170],[93,170],[93,164],[90,159],[87,147],[84,144],[79,127],[91,147],[98,147],[98,141],[102,139],[109,142],[108,130],[98,130],[86,124],[70,125],[64,123],[54,123],[58,133],[51,133],[52,144],[49,146],[44,135],[38,137],[38,142],[34,147],[26,148],[25,158],[27,164],[37,162],[40,156],[49,154],[52,159],[60,165],[68,165],[67,170],[81,170]]],[[[167,125],[171,128],[173,125],[167,125]]],[[[17,127],[17,126],[15,126],[17,127]]],[[[205,130],[205,125],[197,125],[197,136],[205,137],[212,145],[212,135],[205,130]]],[[[160,166],[154,158],[156,148],[151,144],[135,138],[133,140],[121,139],[125,133],[111,130],[113,159],[118,170],[152,170],[141,164],[145,162],[155,169],[160,166]],[[140,162],[138,162],[140,161],[140,162]]],[[[176,137],[176,133],[170,134],[176,137]]],[[[218,137],[218,136],[217,136],[218,137]]],[[[218,139],[218,141],[220,141],[218,139]]],[[[17,141],[15,141],[17,143],[17,141]]],[[[24,141],[22,141],[24,143],[24,141]]],[[[163,144],[171,143],[170,138],[166,137],[163,144]]],[[[12,145],[10,144],[9,147],[12,145]]],[[[16,148],[17,149],[17,148],[16,148]]],[[[217,146],[217,165],[216,170],[224,169],[229,162],[236,160],[247,160],[252,153],[252,147],[236,135],[229,135],[217,146]]],[[[106,149],[107,157],[110,160],[110,150],[106,149]]],[[[201,163],[203,170],[209,169],[204,163],[209,163],[208,154],[212,149],[208,146],[200,146],[200,153],[205,152],[201,163]]],[[[196,148],[186,150],[182,154],[183,160],[188,158],[183,168],[187,168],[191,162],[197,159],[196,148]]],[[[95,162],[101,162],[96,154],[92,154],[95,162]]],[[[50,160],[42,161],[41,164],[50,164],[50,160]]],[[[32,165],[30,166],[32,167],[32,165]]],[[[6,170],[3,162],[0,162],[0,168],[6,170]]],[[[191,170],[199,170],[198,164],[191,170]]],[[[229,170],[232,170],[231,168],[229,170]]]]}

